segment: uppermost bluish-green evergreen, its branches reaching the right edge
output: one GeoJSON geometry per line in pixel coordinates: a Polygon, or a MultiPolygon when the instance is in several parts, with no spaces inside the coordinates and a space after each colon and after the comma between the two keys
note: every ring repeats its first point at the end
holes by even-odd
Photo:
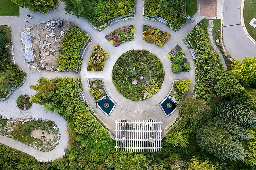
{"type": "Polygon", "coordinates": [[[228,118],[244,127],[256,126],[256,114],[248,106],[233,101],[222,101],[216,107],[216,115],[228,118]]]}

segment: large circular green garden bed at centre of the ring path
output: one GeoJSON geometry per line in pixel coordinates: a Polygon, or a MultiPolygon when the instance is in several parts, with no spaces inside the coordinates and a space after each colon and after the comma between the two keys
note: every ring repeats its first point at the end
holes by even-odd
{"type": "Polygon", "coordinates": [[[155,55],[146,50],[130,50],[115,63],[112,81],[125,98],[138,101],[155,95],[164,75],[163,65],[155,55]]]}

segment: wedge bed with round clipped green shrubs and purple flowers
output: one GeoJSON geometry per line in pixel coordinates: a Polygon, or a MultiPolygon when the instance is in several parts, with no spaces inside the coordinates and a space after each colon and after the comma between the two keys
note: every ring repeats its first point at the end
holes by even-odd
{"type": "Polygon", "coordinates": [[[171,60],[171,69],[173,72],[188,72],[190,70],[190,64],[187,62],[187,58],[179,45],[175,46],[168,53],[168,57],[171,60]]]}

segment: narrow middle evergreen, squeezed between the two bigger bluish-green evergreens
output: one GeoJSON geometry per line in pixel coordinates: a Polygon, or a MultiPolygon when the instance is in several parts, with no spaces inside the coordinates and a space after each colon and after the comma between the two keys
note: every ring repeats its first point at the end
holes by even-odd
{"type": "Polygon", "coordinates": [[[238,125],[237,123],[232,122],[231,120],[221,119],[219,117],[215,117],[213,120],[218,128],[222,128],[223,130],[229,132],[232,136],[235,136],[238,140],[251,139],[251,135],[248,130],[238,125]]]}

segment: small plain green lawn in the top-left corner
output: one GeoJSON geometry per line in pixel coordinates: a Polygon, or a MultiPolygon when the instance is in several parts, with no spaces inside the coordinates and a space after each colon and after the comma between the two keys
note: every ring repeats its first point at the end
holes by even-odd
{"type": "Polygon", "coordinates": [[[10,0],[0,1],[0,16],[19,16],[19,6],[12,3],[10,0]]]}

